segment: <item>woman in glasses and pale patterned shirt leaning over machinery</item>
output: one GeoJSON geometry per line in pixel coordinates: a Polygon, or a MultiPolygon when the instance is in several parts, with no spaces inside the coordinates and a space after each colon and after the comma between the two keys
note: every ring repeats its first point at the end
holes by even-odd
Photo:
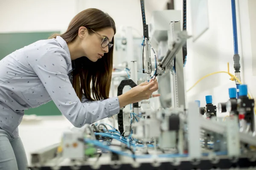
{"type": "Polygon", "coordinates": [[[26,169],[17,128],[24,110],[53,100],[74,126],[82,127],[157,91],[157,81],[151,80],[108,97],[115,33],[113,19],[90,8],[77,14],[64,34],[32,43],[0,61],[0,170],[26,169]]]}

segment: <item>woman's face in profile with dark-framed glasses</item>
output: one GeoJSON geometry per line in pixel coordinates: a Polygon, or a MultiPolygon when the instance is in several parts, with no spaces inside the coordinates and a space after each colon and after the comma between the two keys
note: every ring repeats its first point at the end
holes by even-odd
{"type": "Polygon", "coordinates": [[[114,37],[113,28],[104,28],[100,31],[93,31],[92,34],[88,34],[88,29],[85,30],[85,36],[81,40],[81,48],[83,53],[92,62],[96,62],[102,58],[105,53],[108,53],[109,47],[112,46],[111,41],[114,37]]]}

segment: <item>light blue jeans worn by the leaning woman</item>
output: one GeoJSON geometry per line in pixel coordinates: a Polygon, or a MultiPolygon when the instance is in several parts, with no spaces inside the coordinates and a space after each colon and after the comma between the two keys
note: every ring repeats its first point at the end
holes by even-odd
{"type": "Polygon", "coordinates": [[[20,137],[13,138],[0,129],[0,170],[28,170],[28,161],[20,137]]]}

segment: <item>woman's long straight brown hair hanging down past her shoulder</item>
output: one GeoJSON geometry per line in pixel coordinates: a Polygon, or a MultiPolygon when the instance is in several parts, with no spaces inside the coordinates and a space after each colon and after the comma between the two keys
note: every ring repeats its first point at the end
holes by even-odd
{"type": "MultiPolygon", "coordinates": [[[[99,9],[88,8],[77,14],[71,20],[67,31],[59,36],[67,43],[73,42],[81,26],[91,28],[93,31],[113,28],[116,34],[113,18],[99,9]]],[[[93,31],[88,29],[89,34],[93,34],[93,31]]],[[[56,38],[56,36],[57,34],[54,34],[49,38],[56,38]]],[[[114,40],[111,43],[114,44],[114,40]]],[[[73,70],[73,88],[79,99],[83,92],[85,97],[90,100],[108,99],[113,69],[113,47],[96,62],[90,61],[87,57],[80,57],[75,59],[74,63],[76,68],[73,70]]]]}

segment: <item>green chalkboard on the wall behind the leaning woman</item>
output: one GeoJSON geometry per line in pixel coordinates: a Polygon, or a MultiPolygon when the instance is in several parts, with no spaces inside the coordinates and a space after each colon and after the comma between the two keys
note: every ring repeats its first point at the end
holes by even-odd
{"type": "MultiPolygon", "coordinates": [[[[13,51],[23,48],[38,40],[47,39],[56,32],[27,32],[27,33],[1,33],[0,34],[0,60],[13,51]]],[[[38,116],[61,115],[54,102],[48,102],[38,108],[31,108],[25,111],[25,114],[36,114],[38,116]]]]}

